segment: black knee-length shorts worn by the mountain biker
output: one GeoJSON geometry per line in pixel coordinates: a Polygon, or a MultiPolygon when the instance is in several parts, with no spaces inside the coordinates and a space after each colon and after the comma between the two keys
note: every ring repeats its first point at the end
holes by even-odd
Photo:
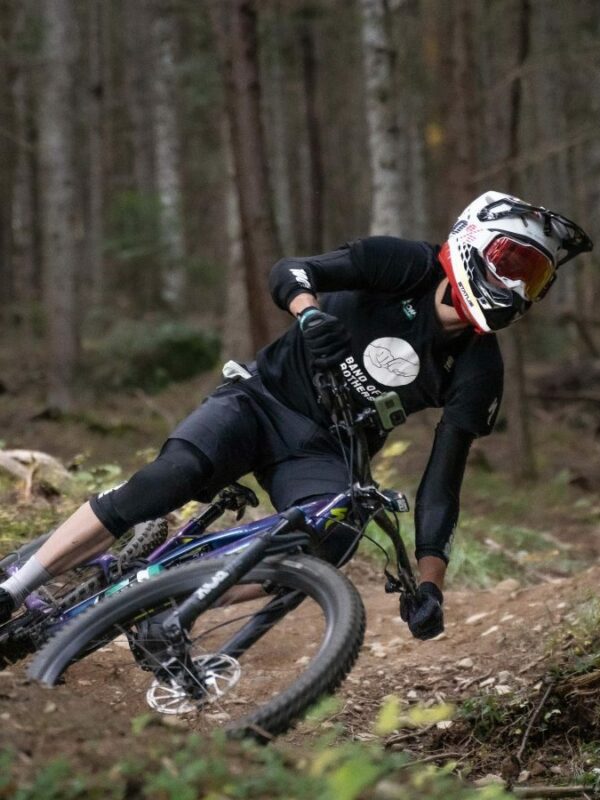
{"type": "Polygon", "coordinates": [[[350,478],[340,443],[322,425],[280,403],[254,371],[219,387],[171,433],[211,461],[198,499],[254,472],[280,511],[307,497],[344,491],[350,478]]]}

